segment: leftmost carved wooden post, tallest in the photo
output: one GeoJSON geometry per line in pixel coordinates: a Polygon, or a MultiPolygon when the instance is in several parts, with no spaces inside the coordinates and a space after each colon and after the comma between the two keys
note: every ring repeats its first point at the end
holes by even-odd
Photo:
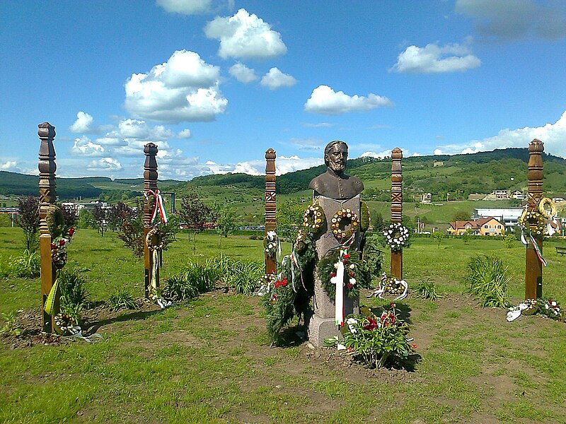
{"type": "Polygon", "coordinates": [[[47,227],[47,211],[55,203],[57,194],[55,192],[55,148],[53,139],[55,138],[55,127],[49,122],[38,125],[37,135],[40,136],[39,165],[40,170],[40,255],[41,255],[41,305],[42,305],[42,329],[46,333],[53,331],[52,317],[59,313],[59,295],[55,298],[52,315],[47,314],[43,309],[45,301],[49,295],[53,283],[55,282],[56,270],[51,259],[51,234],[47,227]]]}

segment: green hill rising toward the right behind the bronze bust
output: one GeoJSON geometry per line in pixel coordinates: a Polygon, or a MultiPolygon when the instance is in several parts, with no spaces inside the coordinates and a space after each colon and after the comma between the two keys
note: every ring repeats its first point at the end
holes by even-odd
{"type": "MultiPolygon", "coordinates": [[[[525,189],[527,185],[526,148],[506,148],[468,155],[434,155],[403,158],[403,185],[413,192],[431,192],[446,197],[489,193],[495,189],[525,189]],[[437,163],[435,167],[434,164],[437,163]]],[[[566,160],[543,155],[545,192],[566,193],[566,160]]],[[[277,160],[275,162],[277,166],[277,160]]],[[[325,166],[290,172],[277,177],[277,193],[293,194],[308,189],[308,183],[325,171],[325,166]]],[[[347,173],[359,177],[366,195],[391,187],[391,158],[357,158],[348,160],[347,173]]],[[[262,189],[265,177],[246,174],[205,175],[184,184],[190,187],[232,186],[262,189]]],[[[182,187],[182,186],[181,186],[182,187]]]]}

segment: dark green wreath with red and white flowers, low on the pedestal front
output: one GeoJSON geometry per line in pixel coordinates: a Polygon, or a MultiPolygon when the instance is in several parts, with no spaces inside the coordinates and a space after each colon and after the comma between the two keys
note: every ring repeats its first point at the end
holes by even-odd
{"type": "MultiPolygon", "coordinates": [[[[317,266],[320,283],[330,300],[335,300],[336,287],[330,279],[336,276],[338,261],[340,261],[340,249],[333,249],[318,262],[317,266]]],[[[345,268],[345,295],[355,299],[359,296],[360,287],[370,287],[371,273],[366,269],[363,261],[354,259],[348,253],[342,256],[342,262],[345,268]]]]}

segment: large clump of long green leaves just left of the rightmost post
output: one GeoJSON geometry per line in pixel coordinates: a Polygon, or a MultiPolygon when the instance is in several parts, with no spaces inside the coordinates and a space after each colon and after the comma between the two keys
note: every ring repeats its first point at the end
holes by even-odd
{"type": "Polygon", "coordinates": [[[477,256],[470,259],[464,282],[483,307],[507,307],[509,304],[507,266],[498,257],[477,256]]]}

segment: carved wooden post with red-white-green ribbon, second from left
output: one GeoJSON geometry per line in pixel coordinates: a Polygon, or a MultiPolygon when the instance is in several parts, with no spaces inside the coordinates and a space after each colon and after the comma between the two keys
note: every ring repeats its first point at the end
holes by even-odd
{"type": "MultiPolygon", "coordinates": [[[[144,154],[146,161],[144,163],[144,194],[146,200],[144,201],[144,268],[145,268],[145,281],[144,293],[146,298],[149,298],[149,288],[151,287],[151,270],[154,266],[154,259],[147,247],[146,235],[151,230],[151,212],[153,211],[154,196],[149,194],[149,190],[156,192],[157,190],[157,146],[154,143],[147,143],[144,146],[144,154]]],[[[156,283],[159,283],[159,270],[157,270],[156,283]]]]}

